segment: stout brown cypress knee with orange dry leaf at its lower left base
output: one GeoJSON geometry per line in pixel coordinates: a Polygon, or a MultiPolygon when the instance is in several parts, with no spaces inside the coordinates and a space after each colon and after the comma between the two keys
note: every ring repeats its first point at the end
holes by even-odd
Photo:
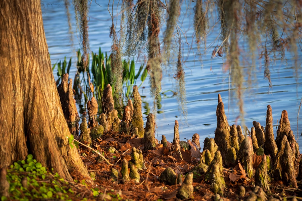
{"type": "Polygon", "coordinates": [[[250,179],[253,176],[253,163],[252,163],[253,154],[254,151],[253,151],[252,139],[251,137],[246,136],[240,145],[238,159],[246,170],[246,176],[250,179]]]}

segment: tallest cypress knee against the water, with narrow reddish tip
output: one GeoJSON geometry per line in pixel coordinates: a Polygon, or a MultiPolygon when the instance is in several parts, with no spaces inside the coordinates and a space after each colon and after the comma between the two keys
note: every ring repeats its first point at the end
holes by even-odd
{"type": "Polygon", "coordinates": [[[230,149],[230,128],[227,122],[226,115],[224,113],[224,104],[221,100],[220,94],[218,94],[218,101],[216,115],[217,115],[217,128],[215,130],[215,143],[218,146],[218,150],[221,152],[222,159],[226,157],[226,152],[230,149]]]}

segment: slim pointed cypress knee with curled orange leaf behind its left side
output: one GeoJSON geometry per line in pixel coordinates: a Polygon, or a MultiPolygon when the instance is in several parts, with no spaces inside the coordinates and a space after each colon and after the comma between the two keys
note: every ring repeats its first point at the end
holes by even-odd
{"type": "Polygon", "coordinates": [[[266,155],[262,155],[262,161],[258,165],[255,173],[255,185],[261,187],[264,191],[271,192],[268,185],[267,160],[266,155]]]}

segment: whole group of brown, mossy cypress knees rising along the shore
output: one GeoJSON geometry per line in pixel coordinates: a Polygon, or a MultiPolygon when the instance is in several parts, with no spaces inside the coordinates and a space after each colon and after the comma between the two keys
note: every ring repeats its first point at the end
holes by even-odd
{"type": "MultiPolygon", "coordinates": [[[[61,103],[67,122],[71,125],[79,120],[76,110],[75,100],[72,92],[72,80],[68,83],[68,74],[62,78],[62,83],[58,86],[61,103]]],[[[133,87],[133,102],[129,99],[128,104],[124,107],[122,119],[118,118],[118,112],[114,109],[114,99],[112,97],[112,88],[107,85],[103,92],[102,109],[104,113],[99,116],[99,122],[96,121],[98,113],[98,104],[94,97],[87,103],[89,121],[82,118],[79,126],[80,141],[90,146],[92,140],[102,137],[104,132],[123,133],[131,138],[142,138],[141,148],[143,151],[154,149],[159,143],[155,139],[155,120],[154,115],[150,113],[147,116],[146,127],[144,128],[142,116],[142,101],[137,86],[133,87]]],[[[259,122],[253,121],[251,131],[241,126],[229,125],[225,112],[224,104],[220,94],[218,95],[217,105],[217,128],[215,137],[205,138],[204,147],[201,151],[199,135],[195,133],[192,142],[187,149],[194,148],[199,150],[200,163],[196,165],[190,173],[185,176],[182,181],[182,175],[175,174],[172,168],[167,168],[159,175],[159,180],[167,184],[182,184],[178,190],[177,197],[181,199],[190,198],[193,194],[194,187],[193,175],[204,174],[205,181],[210,183],[211,190],[223,196],[226,189],[225,168],[233,168],[240,165],[243,168],[243,176],[239,179],[255,180],[255,190],[250,193],[250,199],[254,197],[262,197],[266,199],[270,193],[269,182],[281,180],[287,186],[297,188],[297,180],[302,179],[302,160],[299,152],[299,145],[294,138],[293,131],[290,127],[287,111],[282,111],[276,139],[273,133],[273,118],[271,106],[267,106],[265,128],[259,122]],[[193,146],[193,147],[192,147],[193,146]],[[200,152],[201,151],[201,152],[200,152]],[[256,162],[257,161],[257,162],[256,162]]],[[[70,127],[71,133],[78,135],[77,127],[70,127]]],[[[161,142],[167,146],[165,136],[162,136],[161,142]]],[[[175,121],[174,139],[171,150],[178,159],[182,158],[182,151],[186,143],[179,140],[178,121],[175,121]]],[[[193,150],[193,149],[192,149],[193,150]]],[[[111,177],[113,181],[120,179],[128,181],[133,179],[140,181],[138,170],[146,169],[142,150],[133,147],[131,160],[122,161],[120,171],[121,178],[118,178],[118,171],[112,168],[111,177]],[[130,166],[130,173],[128,167],[130,166]]],[[[244,187],[240,187],[241,196],[245,195],[244,187]]]]}

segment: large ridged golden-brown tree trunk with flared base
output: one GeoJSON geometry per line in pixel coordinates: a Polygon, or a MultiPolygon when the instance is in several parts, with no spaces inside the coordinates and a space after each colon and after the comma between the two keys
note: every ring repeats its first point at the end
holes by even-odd
{"type": "Polygon", "coordinates": [[[68,143],[40,1],[0,4],[0,167],[31,153],[64,179],[88,178],[77,149],[68,143]]]}

